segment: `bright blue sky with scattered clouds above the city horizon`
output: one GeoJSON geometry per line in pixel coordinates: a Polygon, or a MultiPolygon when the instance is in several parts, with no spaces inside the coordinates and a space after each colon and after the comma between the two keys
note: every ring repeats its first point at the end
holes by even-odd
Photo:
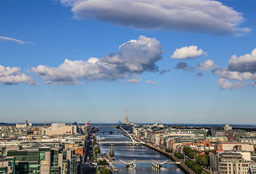
{"type": "Polygon", "coordinates": [[[115,123],[129,109],[132,122],[256,124],[255,1],[179,4],[198,12],[188,20],[161,16],[164,1],[96,2],[0,1],[1,122],[115,123]]]}

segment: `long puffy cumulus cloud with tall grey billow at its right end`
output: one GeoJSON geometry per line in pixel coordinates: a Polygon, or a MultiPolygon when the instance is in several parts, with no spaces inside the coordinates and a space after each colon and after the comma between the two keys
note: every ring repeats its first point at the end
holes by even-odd
{"type": "Polygon", "coordinates": [[[83,80],[134,79],[145,71],[159,71],[156,61],[162,59],[161,54],[162,46],[158,40],[139,36],[137,40],[123,43],[118,54],[110,53],[103,58],[90,58],[87,61],[65,59],[58,67],[39,65],[33,67],[32,71],[45,83],[52,85],[77,84],[83,80]]]}

